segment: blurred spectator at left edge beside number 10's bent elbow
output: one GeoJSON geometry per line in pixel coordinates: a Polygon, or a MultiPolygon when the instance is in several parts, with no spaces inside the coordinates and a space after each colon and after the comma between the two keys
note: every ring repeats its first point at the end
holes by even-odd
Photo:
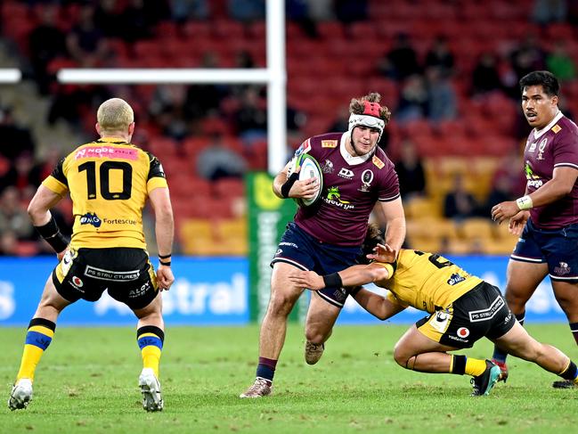
{"type": "Polygon", "coordinates": [[[4,189],[0,195],[0,233],[12,231],[18,240],[34,240],[36,233],[30,224],[26,208],[20,202],[16,187],[4,189]]]}

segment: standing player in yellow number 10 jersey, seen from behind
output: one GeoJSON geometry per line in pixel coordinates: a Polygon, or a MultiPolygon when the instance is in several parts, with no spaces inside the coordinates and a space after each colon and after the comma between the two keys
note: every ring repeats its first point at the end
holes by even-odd
{"type": "Polygon", "coordinates": [[[11,410],[26,408],[32,399],[37,364],[53,339],[62,309],[78,299],[96,301],[105,290],[138,318],[142,405],[147,411],[163,408],[159,359],[165,333],[160,291],[175,281],[170,268],[174,223],[167,180],[159,160],[130,143],[134,113],[128,103],[119,98],[103,102],[96,131],[101,138],[77,147],[61,160],[28,206],[33,225],[56,251],[60,263],[48,278],[28,325],[20,370],[8,399],[11,410]],[[50,213],[66,193],[75,217],[70,242],[50,213]],[[156,274],[142,233],[147,199],[156,221],[156,274]]]}

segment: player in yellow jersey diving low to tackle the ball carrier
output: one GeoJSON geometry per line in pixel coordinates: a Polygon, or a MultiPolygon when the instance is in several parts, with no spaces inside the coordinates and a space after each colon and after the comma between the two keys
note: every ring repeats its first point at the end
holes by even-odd
{"type": "MultiPolygon", "coordinates": [[[[368,265],[350,266],[320,276],[313,271],[295,271],[292,282],[319,291],[325,286],[353,287],[350,294],[370,314],[385,320],[406,307],[426,311],[395,344],[395,362],[422,373],[471,375],[472,395],[488,395],[500,380],[501,370],[489,360],[450,355],[447,351],[470,348],[483,337],[509,354],[540,365],[568,381],[577,382],[576,364],[558,348],[534,340],[509,311],[495,286],[468,274],[439,255],[419,250],[395,251],[383,245],[379,228],[370,225],[364,246],[368,265]],[[371,250],[374,253],[370,253],[371,250]],[[375,283],[390,292],[384,298],[359,285],[375,283]]],[[[313,334],[330,336],[331,326],[316,323],[313,334]]],[[[321,344],[322,342],[315,342],[321,344]]]]}

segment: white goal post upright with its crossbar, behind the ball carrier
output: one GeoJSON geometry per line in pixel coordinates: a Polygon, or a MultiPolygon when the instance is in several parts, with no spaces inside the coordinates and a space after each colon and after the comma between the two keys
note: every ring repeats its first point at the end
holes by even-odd
{"type": "Polygon", "coordinates": [[[69,84],[266,84],[267,168],[281,171],[287,157],[287,70],[285,65],[285,1],[266,2],[264,69],[62,69],[61,83],[69,84]]]}

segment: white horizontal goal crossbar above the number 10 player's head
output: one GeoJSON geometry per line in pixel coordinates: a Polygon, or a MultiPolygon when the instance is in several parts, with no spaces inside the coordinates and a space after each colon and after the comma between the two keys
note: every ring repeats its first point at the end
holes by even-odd
{"type": "Polygon", "coordinates": [[[265,69],[77,69],[65,68],[56,74],[58,81],[69,84],[263,84],[269,71],[265,69]]]}

